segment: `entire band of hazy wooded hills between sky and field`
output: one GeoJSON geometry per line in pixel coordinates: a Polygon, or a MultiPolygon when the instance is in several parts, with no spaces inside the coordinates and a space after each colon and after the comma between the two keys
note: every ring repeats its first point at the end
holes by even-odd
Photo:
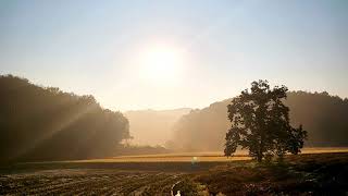
{"type": "MultiPolygon", "coordinates": [[[[39,87],[24,78],[1,76],[0,86],[3,160],[222,151],[231,126],[226,117],[232,99],[203,109],[122,114],[101,108],[92,96],[39,87]]],[[[327,93],[290,91],[284,101],[291,124],[308,130],[306,147],[348,146],[347,99],[327,93]]]]}

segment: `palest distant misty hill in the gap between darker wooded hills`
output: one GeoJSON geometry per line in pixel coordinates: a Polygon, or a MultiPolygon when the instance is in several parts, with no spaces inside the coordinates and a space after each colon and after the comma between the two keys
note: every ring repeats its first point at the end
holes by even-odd
{"type": "Polygon", "coordinates": [[[172,137],[174,123],[191,109],[174,110],[136,110],[125,112],[129,121],[129,132],[134,137],[132,144],[165,145],[172,137]]]}

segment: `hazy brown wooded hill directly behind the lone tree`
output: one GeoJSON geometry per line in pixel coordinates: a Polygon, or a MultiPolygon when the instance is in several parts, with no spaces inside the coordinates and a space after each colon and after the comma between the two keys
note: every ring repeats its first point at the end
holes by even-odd
{"type": "MultiPolygon", "coordinates": [[[[232,99],[192,110],[174,125],[172,145],[182,150],[222,150],[229,128],[226,106],[232,99]]],[[[327,93],[291,91],[285,103],[291,124],[303,124],[307,146],[348,146],[348,99],[327,93]]]]}

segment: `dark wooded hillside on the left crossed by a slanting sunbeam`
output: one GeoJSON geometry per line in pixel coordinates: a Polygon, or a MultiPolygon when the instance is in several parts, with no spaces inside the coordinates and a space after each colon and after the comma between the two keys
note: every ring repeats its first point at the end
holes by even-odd
{"type": "Polygon", "coordinates": [[[128,121],[92,96],[0,76],[0,162],[65,160],[115,154],[128,121]]]}

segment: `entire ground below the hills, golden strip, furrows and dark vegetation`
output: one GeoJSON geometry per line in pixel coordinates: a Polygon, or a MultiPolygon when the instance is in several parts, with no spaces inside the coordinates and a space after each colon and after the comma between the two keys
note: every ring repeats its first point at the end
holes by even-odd
{"type": "Polygon", "coordinates": [[[221,159],[206,152],[21,163],[0,170],[0,195],[347,193],[347,152],[321,149],[289,156],[282,166],[256,166],[245,156],[221,159]]]}

